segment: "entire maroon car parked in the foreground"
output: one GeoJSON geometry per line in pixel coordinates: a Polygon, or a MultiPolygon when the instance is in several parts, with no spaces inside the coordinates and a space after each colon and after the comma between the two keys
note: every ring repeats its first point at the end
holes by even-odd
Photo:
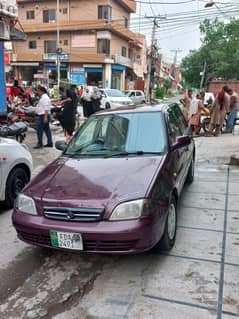
{"type": "Polygon", "coordinates": [[[19,194],[18,237],[33,245],[138,253],[175,242],[195,146],[177,104],[102,111],[19,194]]]}

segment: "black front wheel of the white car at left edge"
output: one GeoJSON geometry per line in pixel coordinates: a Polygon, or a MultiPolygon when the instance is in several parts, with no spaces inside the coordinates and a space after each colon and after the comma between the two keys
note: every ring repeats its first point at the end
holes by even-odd
{"type": "Polygon", "coordinates": [[[11,208],[18,193],[29,182],[28,175],[23,168],[15,168],[7,178],[4,205],[11,208]]]}

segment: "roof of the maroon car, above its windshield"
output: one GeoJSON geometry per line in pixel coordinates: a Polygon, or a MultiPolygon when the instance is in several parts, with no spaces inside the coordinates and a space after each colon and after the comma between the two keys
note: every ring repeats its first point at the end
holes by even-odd
{"type": "Polygon", "coordinates": [[[119,113],[146,113],[146,112],[162,112],[166,113],[169,108],[178,103],[160,103],[160,104],[143,104],[143,105],[132,105],[132,106],[123,106],[116,109],[107,109],[97,113],[97,115],[103,114],[119,114],[119,113]]]}

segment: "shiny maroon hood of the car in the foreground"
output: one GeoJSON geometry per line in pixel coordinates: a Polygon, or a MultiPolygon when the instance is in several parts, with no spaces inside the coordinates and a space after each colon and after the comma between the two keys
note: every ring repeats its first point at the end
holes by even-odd
{"type": "Polygon", "coordinates": [[[54,206],[105,207],[145,197],[161,161],[162,156],[60,157],[32,180],[26,192],[54,206]]]}

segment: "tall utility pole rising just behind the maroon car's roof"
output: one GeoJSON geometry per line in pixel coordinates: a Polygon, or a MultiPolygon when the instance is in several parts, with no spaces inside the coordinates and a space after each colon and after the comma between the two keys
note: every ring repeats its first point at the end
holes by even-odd
{"type": "Polygon", "coordinates": [[[147,99],[151,102],[152,93],[154,88],[154,72],[155,72],[155,33],[156,27],[159,27],[156,21],[156,18],[153,20],[153,29],[152,29],[152,39],[150,47],[150,56],[149,56],[149,73],[148,73],[148,87],[147,87],[147,99]]]}

